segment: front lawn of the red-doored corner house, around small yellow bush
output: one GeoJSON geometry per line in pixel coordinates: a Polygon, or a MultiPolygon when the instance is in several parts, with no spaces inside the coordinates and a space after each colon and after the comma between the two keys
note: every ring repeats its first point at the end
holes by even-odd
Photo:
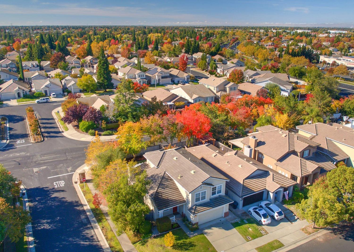
{"type": "Polygon", "coordinates": [[[164,243],[165,234],[159,235],[155,238],[146,239],[134,244],[137,251],[141,252],[177,252],[177,251],[215,251],[213,245],[205,237],[204,234],[188,237],[183,229],[175,229],[172,231],[175,235],[175,244],[171,248],[167,248],[164,243]]]}

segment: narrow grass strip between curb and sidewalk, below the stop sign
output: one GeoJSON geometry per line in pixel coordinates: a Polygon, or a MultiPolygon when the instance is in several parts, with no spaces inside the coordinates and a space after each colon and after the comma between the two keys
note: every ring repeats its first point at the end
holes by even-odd
{"type": "Polygon", "coordinates": [[[104,237],[106,238],[110,249],[112,250],[112,252],[122,252],[123,251],[122,246],[120,246],[120,243],[119,243],[117,237],[115,236],[115,234],[113,233],[113,230],[110,227],[108,221],[104,217],[104,215],[101,211],[101,208],[95,208],[95,206],[93,206],[93,204],[92,204],[93,195],[91,193],[91,190],[89,189],[89,187],[87,185],[86,185],[86,190],[85,190],[84,184],[80,184],[80,188],[87,200],[87,203],[89,203],[91,211],[92,211],[93,215],[95,216],[96,221],[97,221],[99,227],[101,228],[102,233],[103,233],[104,237]]]}

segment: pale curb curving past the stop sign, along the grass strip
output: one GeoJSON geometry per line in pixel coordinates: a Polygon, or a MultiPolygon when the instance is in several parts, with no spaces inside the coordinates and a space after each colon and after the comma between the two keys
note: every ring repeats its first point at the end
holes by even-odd
{"type": "Polygon", "coordinates": [[[103,251],[104,252],[112,252],[112,250],[110,249],[110,247],[108,245],[108,242],[107,242],[106,238],[104,237],[104,235],[102,233],[101,227],[99,227],[99,225],[97,223],[97,220],[96,220],[95,216],[93,215],[93,213],[91,211],[89,203],[87,203],[86,198],[85,198],[84,194],[81,191],[79,183],[75,184],[75,182],[78,182],[77,176],[78,176],[79,171],[82,170],[82,168],[84,168],[85,166],[86,166],[86,164],[81,165],[79,168],[76,169],[75,173],[73,174],[73,178],[72,178],[73,185],[74,185],[74,188],[76,190],[76,193],[79,196],[79,199],[81,201],[82,207],[84,208],[84,210],[85,210],[85,212],[87,214],[87,217],[90,219],[90,223],[92,225],[92,228],[95,231],[95,234],[97,236],[97,239],[98,239],[99,243],[101,244],[101,247],[102,247],[103,251]]]}

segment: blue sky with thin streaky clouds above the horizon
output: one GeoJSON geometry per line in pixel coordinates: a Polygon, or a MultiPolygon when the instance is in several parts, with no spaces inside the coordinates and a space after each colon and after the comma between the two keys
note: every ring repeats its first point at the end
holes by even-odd
{"type": "Polygon", "coordinates": [[[0,25],[354,27],[350,0],[0,0],[0,12],[0,25]]]}

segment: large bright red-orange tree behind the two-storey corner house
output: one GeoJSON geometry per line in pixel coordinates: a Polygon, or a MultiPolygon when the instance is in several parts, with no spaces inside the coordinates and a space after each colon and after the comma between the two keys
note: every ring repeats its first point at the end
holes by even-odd
{"type": "Polygon", "coordinates": [[[211,136],[210,119],[203,113],[194,109],[186,109],[176,114],[177,122],[183,124],[183,133],[188,137],[188,145],[193,144],[194,140],[204,136],[211,136]]]}

